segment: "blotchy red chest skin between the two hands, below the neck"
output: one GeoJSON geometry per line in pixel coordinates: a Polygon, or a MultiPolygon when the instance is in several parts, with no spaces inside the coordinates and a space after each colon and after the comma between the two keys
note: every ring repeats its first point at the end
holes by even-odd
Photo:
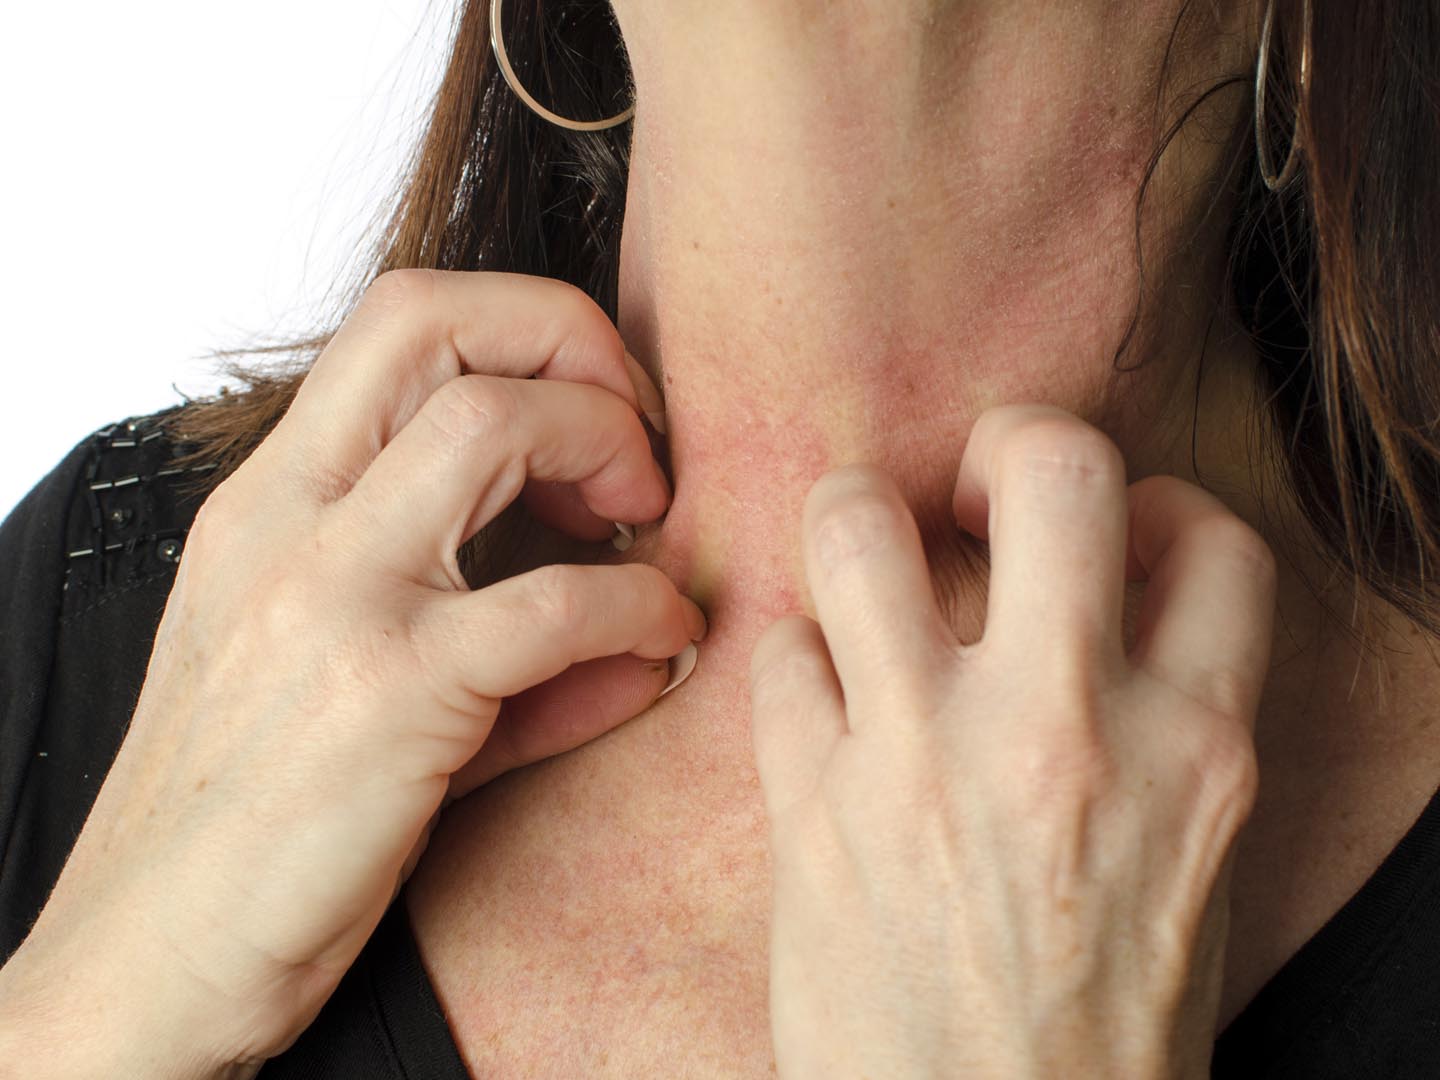
{"type": "Polygon", "coordinates": [[[474,1076],[775,1073],[753,766],[652,713],[455,804],[406,890],[474,1076]]]}

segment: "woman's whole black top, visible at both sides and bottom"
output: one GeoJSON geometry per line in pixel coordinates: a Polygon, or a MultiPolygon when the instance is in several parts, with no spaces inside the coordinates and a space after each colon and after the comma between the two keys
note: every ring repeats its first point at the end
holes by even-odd
{"type": "MultiPolygon", "coordinates": [[[[199,505],[174,406],[79,442],[0,524],[0,960],[24,937],[140,694],[199,505]]],[[[1440,793],[1215,1043],[1212,1077],[1440,1077],[1440,793]]],[[[403,899],[262,1080],[465,1080],[403,899]]]]}

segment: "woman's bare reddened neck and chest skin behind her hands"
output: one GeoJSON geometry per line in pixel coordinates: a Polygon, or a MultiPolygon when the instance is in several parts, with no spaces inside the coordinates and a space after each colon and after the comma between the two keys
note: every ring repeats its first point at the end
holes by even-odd
{"type": "MultiPolygon", "coordinates": [[[[1299,576],[1318,570],[1289,539],[1293,510],[1247,467],[1254,359],[1221,295],[1220,190],[1225,140],[1250,117],[1243,82],[1156,171],[1135,370],[1112,363],[1140,284],[1135,193],[1175,117],[1153,102],[1181,6],[613,0],[638,96],[619,330],[664,392],[675,497],[624,554],[559,543],[549,562],[654,563],[710,635],[674,694],[455,804],[432,838],[408,903],[477,1074],[527,1058],[596,1074],[600,1050],[603,1074],[668,1073],[664,1054],[766,1074],[752,645],[786,612],[814,616],[801,508],[855,461],[896,480],[950,625],[979,638],[984,544],[955,526],[950,494],[995,403],[1074,412],[1132,481],[1202,478],[1282,556],[1221,1025],[1418,815],[1440,778],[1440,752],[1416,750],[1440,742],[1424,737],[1434,662],[1395,621],[1384,644],[1400,652],[1356,667],[1299,576]]],[[[1168,82],[1185,104],[1251,72],[1257,37],[1248,3],[1191,7],[1168,82]]],[[[1348,580],[1333,586],[1346,619],[1348,580]]]]}

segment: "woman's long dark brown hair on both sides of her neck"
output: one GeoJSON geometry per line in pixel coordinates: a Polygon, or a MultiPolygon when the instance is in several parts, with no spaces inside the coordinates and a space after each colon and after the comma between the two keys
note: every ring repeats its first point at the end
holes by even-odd
{"type": "MultiPolygon", "coordinates": [[[[1260,356],[1270,445],[1282,458],[1276,472],[1322,553],[1356,588],[1440,635],[1427,585],[1440,536],[1433,438],[1440,366],[1430,366],[1440,346],[1440,0],[1312,0],[1312,85],[1300,99],[1293,59],[1303,3],[1276,0],[1267,84],[1272,158],[1283,161],[1299,131],[1302,167],[1272,193],[1250,124],[1236,132],[1227,288],[1260,356]]],[[[1189,9],[1187,0],[1181,20],[1189,9]]],[[[504,84],[488,42],[488,1],[462,0],[425,135],[330,327],[210,353],[246,389],[187,402],[170,425],[193,444],[186,462],[217,464],[197,474],[206,487],[264,439],[346,312],[384,271],[560,278],[615,318],[629,128],[573,132],[540,120],[504,84]],[[240,356],[271,360],[245,364],[235,360],[240,356]]],[[[564,115],[606,117],[631,99],[606,0],[511,0],[505,42],[531,92],[564,115]]],[[[1210,95],[1250,92],[1253,82],[1244,72],[1210,86],[1165,132],[1138,192],[1136,228],[1149,176],[1179,127],[1210,95]]],[[[1128,334],[1116,361],[1129,341],[1128,334]]],[[[523,549],[533,523],[520,507],[517,500],[462,549],[471,585],[501,576],[497,540],[511,557],[523,549]]]]}

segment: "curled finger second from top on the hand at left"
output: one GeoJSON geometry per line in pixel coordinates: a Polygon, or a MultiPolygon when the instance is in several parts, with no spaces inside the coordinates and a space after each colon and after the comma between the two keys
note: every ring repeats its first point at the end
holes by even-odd
{"type": "Polygon", "coordinates": [[[456,549],[527,477],[575,482],[592,514],[609,521],[651,521],[670,505],[639,418],[611,392],[464,374],[431,395],[325,513],[344,534],[369,537],[364,550],[379,564],[465,588],[456,549]]]}

